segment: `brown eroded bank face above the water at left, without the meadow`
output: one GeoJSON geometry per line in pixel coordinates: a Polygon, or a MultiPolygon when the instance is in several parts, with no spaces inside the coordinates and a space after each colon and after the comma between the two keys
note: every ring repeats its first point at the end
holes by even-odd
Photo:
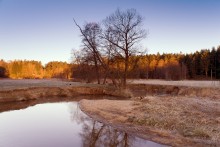
{"type": "Polygon", "coordinates": [[[33,87],[0,91],[0,102],[13,102],[42,99],[48,97],[76,97],[79,95],[109,95],[130,97],[126,91],[114,87],[93,86],[62,86],[62,87],[33,87]]]}

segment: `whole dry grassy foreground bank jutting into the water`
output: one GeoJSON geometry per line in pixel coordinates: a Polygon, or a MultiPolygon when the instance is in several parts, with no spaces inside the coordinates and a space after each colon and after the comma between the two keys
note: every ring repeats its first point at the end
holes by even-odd
{"type": "Polygon", "coordinates": [[[220,101],[148,96],[132,100],[82,100],[94,119],[171,146],[220,146],[220,101]]]}

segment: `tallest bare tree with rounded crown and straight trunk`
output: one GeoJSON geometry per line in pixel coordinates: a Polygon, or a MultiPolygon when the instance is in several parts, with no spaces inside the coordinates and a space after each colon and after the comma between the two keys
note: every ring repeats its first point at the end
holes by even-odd
{"type": "Polygon", "coordinates": [[[129,57],[138,52],[135,45],[146,37],[146,30],[142,29],[143,18],[135,9],[115,13],[104,20],[105,32],[103,38],[115,46],[114,54],[123,59],[124,69],[122,85],[126,86],[129,57]]]}

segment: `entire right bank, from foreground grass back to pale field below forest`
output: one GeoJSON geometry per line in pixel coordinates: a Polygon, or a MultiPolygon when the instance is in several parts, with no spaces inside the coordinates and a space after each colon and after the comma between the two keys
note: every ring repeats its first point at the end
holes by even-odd
{"type": "Polygon", "coordinates": [[[133,81],[130,100],[82,100],[93,119],[171,146],[220,146],[219,81],[133,81]],[[162,83],[162,84],[161,84],[162,83]]]}

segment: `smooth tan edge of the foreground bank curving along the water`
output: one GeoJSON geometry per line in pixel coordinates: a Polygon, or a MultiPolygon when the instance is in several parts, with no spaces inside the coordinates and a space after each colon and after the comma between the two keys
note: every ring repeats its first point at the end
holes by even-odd
{"type": "MultiPolygon", "coordinates": [[[[80,109],[94,120],[98,120],[107,125],[111,125],[119,130],[135,134],[136,136],[150,140],[156,143],[171,146],[219,146],[220,141],[213,142],[207,138],[185,137],[177,131],[155,128],[149,125],[140,125],[129,122],[131,110],[127,110],[127,103],[132,104],[133,100],[127,100],[125,106],[124,100],[81,100],[80,109]],[[114,102],[113,102],[114,101],[114,102]],[[115,102],[120,103],[116,105],[115,102]],[[124,107],[124,108],[123,108],[124,107]],[[124,118],[123,118],[124,117],[124,118]]],[[[129,104],[129,105],[130,105],[129,104]]],[[[134,112],[135,115],[138,115],[134,112]]]]}

